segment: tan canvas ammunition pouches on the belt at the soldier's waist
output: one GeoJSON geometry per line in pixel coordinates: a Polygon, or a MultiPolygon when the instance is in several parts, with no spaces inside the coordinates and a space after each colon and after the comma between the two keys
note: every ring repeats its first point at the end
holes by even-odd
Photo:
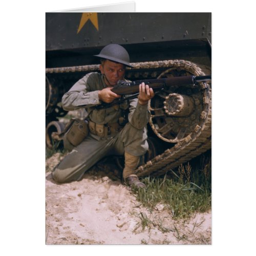
{"type": "Polygon", "coordinates": [[[98,124],[93,121],[89,121],[89,130],[91,134],[97,135],[101,138],[115,136],[122,129],[123,126],[121,126],[119,123],[98,124]]]}

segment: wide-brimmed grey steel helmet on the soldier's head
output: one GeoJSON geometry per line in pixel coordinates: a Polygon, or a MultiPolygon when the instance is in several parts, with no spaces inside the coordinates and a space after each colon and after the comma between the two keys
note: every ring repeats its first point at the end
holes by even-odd
{"type": "Polygon", "coordinates": [[[116,44],[105,46],[98,55],[94,56],[113,60],[118,63],[122,63],[125,66],[133,68],[133,66],[130,65],[129,53],[127,53],[127,51],[122,46],[116,44]]]}

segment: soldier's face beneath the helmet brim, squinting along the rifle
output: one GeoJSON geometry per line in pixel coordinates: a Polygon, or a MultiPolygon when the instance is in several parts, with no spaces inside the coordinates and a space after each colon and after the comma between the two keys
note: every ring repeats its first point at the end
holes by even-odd
{"type": "Polygon", "coordinates": [[[124,77],[125,66],[121,63],[106,59],[99,68],[100,72],[105,75],[108,86],[115,86],[117,81],[124,77]]]}

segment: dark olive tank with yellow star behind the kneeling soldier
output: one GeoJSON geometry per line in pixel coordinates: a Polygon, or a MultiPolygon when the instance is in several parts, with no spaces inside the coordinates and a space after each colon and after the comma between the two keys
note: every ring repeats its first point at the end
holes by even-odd
{"type": "MultiPolygon", "coordinates": [[[[211,13],[46,13],[49,147],[64,129],[58,122],[67,114],[62,95],[87,73],[99,72],[93,55],[108,44],[129,52],[134,68],[127,68],[125,77],[130,80],[208,75],[211,13]]],[[[164,174],[210,150],[211,83],[162,90],[149,109],[150,149],[138,176],[164,174]],[[189,111],[180,112],[181,102],[191,105],[189,111]]]]}

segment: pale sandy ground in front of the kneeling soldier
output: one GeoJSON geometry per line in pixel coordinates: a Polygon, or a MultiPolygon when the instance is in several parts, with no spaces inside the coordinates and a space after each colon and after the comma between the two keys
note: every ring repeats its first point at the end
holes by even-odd
{"type": "Polygon", "coordinates": [[[46,161],[46,244],[211,244],[211,212],[174,221],[164,205],[145,208],[104,161],[58,184],[51,170],[61,158],[46,161]],[[145,227],[142,217],[151,221],[145,227]]]}

